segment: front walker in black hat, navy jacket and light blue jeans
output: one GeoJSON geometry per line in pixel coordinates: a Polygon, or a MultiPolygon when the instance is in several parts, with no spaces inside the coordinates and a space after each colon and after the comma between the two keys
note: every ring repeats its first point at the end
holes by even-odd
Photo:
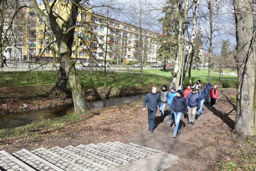
{"type": "Polygon", "coordinates": [[[184,94],[180,89],[177,90],[177,95],[173,97],[170,110],[173,109],[174,118],[175,118],[175,128],[173,131],[173,137],[176,138],[177,133],[180,132],[179,124],[182,113],[186,110],[187,103],[184,94]]]}

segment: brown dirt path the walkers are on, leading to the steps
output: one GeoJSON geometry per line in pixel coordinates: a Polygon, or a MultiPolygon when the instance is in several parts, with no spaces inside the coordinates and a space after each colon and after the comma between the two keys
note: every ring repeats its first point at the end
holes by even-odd
{"type": "Polygon", "coordinates": [[[236,89],[220,90],[215,107],[204,103],[203,114],[196,117],[194,125],[188,124],[188,118],[182,116],[180,121],[180,133],[173,138],[174,123],[168,121],[168,107],[165,111],[165,119],[160,123],[160,113],[157,114],[156,129],[154,133],[144,129],[131,137],[128,142],[137,143],[171,153],[180,157],[170,170],[213,170],[217,158],[221,157],[222,148],[237,141],[232,129],[234,127],[234,105],[226,95],[236,93],[236,89]]]}

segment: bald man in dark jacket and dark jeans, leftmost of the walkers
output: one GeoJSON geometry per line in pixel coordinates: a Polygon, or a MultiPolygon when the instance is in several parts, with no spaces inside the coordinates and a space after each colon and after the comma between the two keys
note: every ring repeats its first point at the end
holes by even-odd
{"type": "Polygon", "coordinates": [[[148,131],[154,132],[156,111],[161,106],[161,98],[156,92],[156,87],[152,87],[152,90],[146,94],[143,101],[143,111],[146,109],[146,103],[148,103],[148,131]]]}

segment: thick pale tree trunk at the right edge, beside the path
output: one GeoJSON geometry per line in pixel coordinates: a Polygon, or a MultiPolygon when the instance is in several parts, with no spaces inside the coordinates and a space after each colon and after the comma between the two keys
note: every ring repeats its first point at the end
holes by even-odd
{"type": "Polygon", "coordinates": [[[237,109],[235,131],[243,135],[255,133],[255,44],[253,0],[234,0],[236,19],[236,51],[238,70],[237,109]]]}

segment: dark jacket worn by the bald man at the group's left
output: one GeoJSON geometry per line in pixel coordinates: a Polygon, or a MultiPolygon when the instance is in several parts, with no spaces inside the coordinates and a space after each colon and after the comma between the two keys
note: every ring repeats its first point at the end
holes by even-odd
{"type": "Polygon", "coordinates": [[[145,99],[143,101],[143,108],[146,107],[146,103],[148,103],[148,110],[157,111],[158,108],[161,107],[161,98],[159,93],[153,94],[150,90],[149,93],[146,94],[145,99]]]}

